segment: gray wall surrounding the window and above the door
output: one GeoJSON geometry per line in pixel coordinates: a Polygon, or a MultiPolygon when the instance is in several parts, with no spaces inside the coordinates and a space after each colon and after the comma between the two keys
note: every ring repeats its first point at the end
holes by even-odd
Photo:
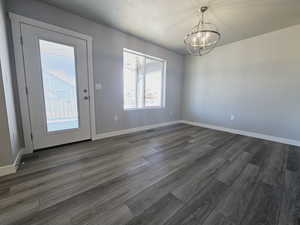
{"type": "Polygon", "coordinates": [[[7,5],[8,11],[93,37],[95,83],[102,84],[102,90],[95,91],[98,134],[181,118],[183,56],[45,3],[9,0],[7,5]],[[165,109],[123,110],[123,48],[167,60],[165,109]],[[119,117],[118,121],[114,120],[115,115],[119,117]]]}

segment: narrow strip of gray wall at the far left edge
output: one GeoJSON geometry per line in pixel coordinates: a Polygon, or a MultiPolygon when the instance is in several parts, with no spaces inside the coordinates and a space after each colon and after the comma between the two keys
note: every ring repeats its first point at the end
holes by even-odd
{"type": "Polygon", "coordinates": [[[0,166],[11,164],[20,150],[4,3],[0,0],[0,166]]]}

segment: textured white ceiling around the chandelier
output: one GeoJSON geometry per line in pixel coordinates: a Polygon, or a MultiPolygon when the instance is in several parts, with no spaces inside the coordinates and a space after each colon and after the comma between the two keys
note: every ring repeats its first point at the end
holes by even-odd
{"type": "Polygon", "coordinates": [[[185,54],[183,39],[208,5],[219,45],[300,23],[300,0],[40,0],[185,54]]]}

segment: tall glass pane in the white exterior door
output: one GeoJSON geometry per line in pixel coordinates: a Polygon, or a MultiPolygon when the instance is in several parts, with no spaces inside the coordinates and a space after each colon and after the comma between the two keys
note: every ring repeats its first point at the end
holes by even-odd
{"type": "Polygon", "coordinates": [[[48,132],[79,128],[75,50],[39,40],[48,132]]]}

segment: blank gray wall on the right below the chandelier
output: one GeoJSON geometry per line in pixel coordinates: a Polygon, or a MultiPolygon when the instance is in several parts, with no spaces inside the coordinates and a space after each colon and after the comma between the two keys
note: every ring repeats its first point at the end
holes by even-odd
{"type": "Polygon", "coordinates": [[[183,119],[300,140],[299,40],[297,25],[187,57],[183,119]]]}

